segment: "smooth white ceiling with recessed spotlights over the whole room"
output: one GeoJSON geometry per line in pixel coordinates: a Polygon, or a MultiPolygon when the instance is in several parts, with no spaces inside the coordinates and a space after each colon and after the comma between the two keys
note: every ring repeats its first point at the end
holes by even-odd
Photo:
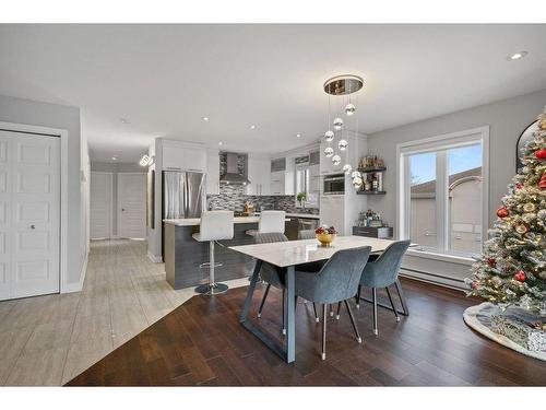
{"type": "Polygon", "coordinates": [[[545,89],[545,38],[514,24],[2,25],[0,94],[82,107],[95,161],[135,161],[156,137],[280,152],[325,131],[330,77],[364,77],[369,133],[545,89]]]}

